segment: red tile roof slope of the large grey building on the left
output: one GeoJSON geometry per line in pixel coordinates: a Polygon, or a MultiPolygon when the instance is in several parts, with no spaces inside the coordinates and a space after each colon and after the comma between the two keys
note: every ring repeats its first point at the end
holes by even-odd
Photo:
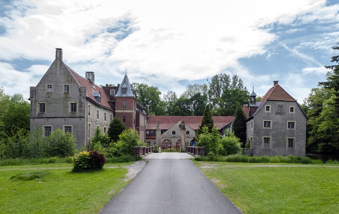
{"type": "Polygon", "coordinates": [[[99,105],[102,105],[108,109],[112,109],[111,105],[109,105],[108,101],[110,101],[108,95],[106,94],[106,92],[98,85],[92,86],[91,82],[89,82],[88,79],[80,76],[78,73],[76,73],[75,71],[73,71],[71,68],[69,68],[66,64],[65,66],[67,67],[68,71],[72,74],[72,76],[74,77],[74,79],[77,81],[78,85],[80,87],[86,87],[86,97],[90,98],[93,100],[93,102],[96,102],[99,105]],[[100,95],[101,95],[101,103],[99,103],[93,96],[92,91],[99,91],[100,95]]]}

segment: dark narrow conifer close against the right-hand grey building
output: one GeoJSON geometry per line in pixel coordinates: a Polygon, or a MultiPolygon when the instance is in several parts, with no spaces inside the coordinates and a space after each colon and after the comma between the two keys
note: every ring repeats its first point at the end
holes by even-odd
{"type": "Polygon", "coordinates": [[[236,108],[234,117],[232,130],[234,131],[234,135],[240,139],[240,142],[242,142],[242,145],[244,146],[246,142],[246,116],[240,105],[236,108]]]}

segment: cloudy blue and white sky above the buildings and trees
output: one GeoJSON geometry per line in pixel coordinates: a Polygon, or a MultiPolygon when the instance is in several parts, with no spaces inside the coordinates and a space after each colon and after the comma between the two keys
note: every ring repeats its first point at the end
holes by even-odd
{"type": "Polygon", "coordinates": [[[338,1],[0,0],[0,86],[28,98],[62,48],[96,84],[117,85],[127,69],[180,95],[226,73],[260,96],[279,80],[302,103],[338,42],[338,1]]]}

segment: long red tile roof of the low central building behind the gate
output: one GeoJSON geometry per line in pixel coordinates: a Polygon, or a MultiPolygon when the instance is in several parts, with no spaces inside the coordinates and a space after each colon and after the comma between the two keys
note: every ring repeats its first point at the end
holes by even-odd
{"type": "MultiPolygon", "coordinates": [[[[197,130],[201,124],[202,116],[149,116],[147,129],[156,129],[158,120],[161,129],[169,129],[180,120],[183,120],[187,126],[197,130]]],[[[233,116],[213,117],[214,125],[220,130],[222,127],[230,123],[234,119],[233,116]]]]}

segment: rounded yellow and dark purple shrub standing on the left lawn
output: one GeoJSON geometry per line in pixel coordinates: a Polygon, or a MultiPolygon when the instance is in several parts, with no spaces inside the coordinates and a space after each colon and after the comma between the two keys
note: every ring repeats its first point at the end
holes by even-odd
{"type": "Polygon", "coordinates": [[[106,161],[106,156],[97,151],[82,151],[79,154],[74,154],[73,171],[91,171],[102,169],[106,161]]]}

